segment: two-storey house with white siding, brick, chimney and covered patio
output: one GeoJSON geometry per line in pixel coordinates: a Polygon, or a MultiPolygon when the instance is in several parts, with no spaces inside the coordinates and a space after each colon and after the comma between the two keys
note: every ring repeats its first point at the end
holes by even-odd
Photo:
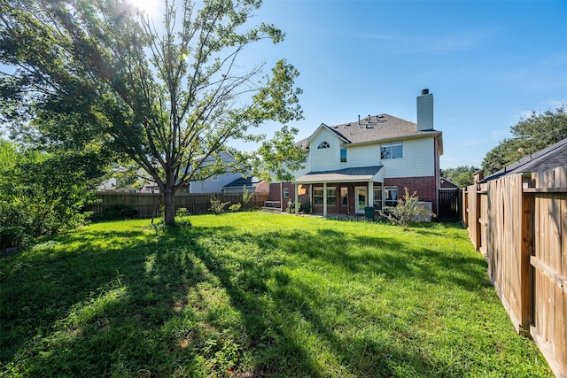
{"type": "Polygon", "coordinates": [[[292,182],[270,185],[270,200],[284,208],[310,203],[311,212],[365,213],[397,204],[404,188],[437,212],[439,156],[443,137],[433,128],[433,95],[417,97],[417,123],[390,114],[369,115],[346,124],[322,123],[298,143],[306,152],[304,170],[292,182]]]}

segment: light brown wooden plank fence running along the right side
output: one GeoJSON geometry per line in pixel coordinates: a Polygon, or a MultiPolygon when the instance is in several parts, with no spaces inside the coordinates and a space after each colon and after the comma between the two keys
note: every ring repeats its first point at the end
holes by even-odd
{"type": "Polygon", "coordinates": [[[567,377],[567,166],[472,185],[462,204],[514,327],[567,377]]]}

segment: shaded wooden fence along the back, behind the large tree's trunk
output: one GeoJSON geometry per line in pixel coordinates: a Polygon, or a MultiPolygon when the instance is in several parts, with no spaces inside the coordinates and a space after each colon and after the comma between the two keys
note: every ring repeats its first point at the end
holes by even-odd
{"type": "MultiPolygon", "coordinates": [[[[243,204],[241,210],[263,206],[264,201],[268,201],[268,196],[268,192],[254,192],[250,202],[243,204]]],[[[208,209],[211,207],[211,198],[213,197],[217,197],[221,202],[230,202],[230,204],[242,202],[242,193],[178,193],[174,197],[175,211],[184,207],[192,214],[204,214],[209,212],[208,209]]],[[[136,208],[140,218],[158,217],[159,210],[164,204],[163,196],[159,193],[103,191],[97,193],[97,198],[101,200],[93,209],[97,214],[105,212],[113,205],[127,204],[136,208]]],[[[227,205],[227,208],[230,204],[227,205]]]]}

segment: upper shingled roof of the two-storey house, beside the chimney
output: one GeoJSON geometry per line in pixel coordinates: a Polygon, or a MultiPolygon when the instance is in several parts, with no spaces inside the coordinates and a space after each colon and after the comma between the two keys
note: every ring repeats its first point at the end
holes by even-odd
{"type": "MultiPolygon", "coordinates": [[[[402,120],[390,114],[378,114],[375,116],[365,117],[360,120],[344,123],[337,126],[329,127],[321,124],[321,127],[329,129],[335,133],[346,143],[375,143],[396,141],[401,139],[418,138],[423,136],[441,136],[441,132],[437,130],[417,130],[417,124],[408,120],[402,120]]],[[[315,135],[317,133],[313,135],[315,135]]],[[[311,135],[307,140],[299,141],[300,145],[308,145],[308,140],[313,136],[311,135]]],[[[440,138],[439,138],[440,139],[440,138]]],[[[298,144],[299,144],[298,143],[298,144]]],[[[442,150],[442,144],[441,144],[442,150]]]]}

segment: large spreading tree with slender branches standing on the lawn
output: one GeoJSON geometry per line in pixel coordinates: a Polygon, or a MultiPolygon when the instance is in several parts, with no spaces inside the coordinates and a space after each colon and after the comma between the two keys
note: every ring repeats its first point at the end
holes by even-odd
{"type": "Polygon", "coordinates": [[[280,165],[299,157],[277,135],[266,141],[252,132],[266,121],[302,118],[295,67],[282,59],[264,75],[265,62],[239,64],[250,44],[283,40],[273,25],[248,25],[260,0],[206,0],[200,8],[166,1],[162,27],[125,0],[0,4],[0,62],[17,67],[1,78],[4,122],[55,142],[95,140],[128,157],[164,194],[167,225],[175,224],[173,197],[187,182],[273,166],[278,151],[293,150],[280,165]],[[264,143],[237,164],[202,165],[234,140],[264,143]]]}

